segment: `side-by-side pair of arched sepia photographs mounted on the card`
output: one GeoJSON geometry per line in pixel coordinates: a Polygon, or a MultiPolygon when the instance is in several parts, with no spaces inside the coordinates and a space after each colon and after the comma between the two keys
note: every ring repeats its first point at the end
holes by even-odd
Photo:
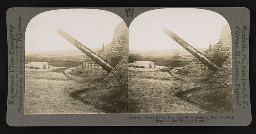
{"type": "Polygon", "coordinates": [[[150,10],[129,30],[104,10],[43,12],[25,64],[24,114],[234,112],[230,26],[209,10],[150,10]]]}

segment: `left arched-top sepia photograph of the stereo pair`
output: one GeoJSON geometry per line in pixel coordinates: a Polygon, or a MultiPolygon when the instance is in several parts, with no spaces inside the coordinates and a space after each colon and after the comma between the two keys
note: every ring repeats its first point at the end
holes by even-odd
{"type": "Polygon", "coordinates": [[[97,9],[38,14],[25,33],[24,114],[128,113],[128,27],[97,9]]]}

